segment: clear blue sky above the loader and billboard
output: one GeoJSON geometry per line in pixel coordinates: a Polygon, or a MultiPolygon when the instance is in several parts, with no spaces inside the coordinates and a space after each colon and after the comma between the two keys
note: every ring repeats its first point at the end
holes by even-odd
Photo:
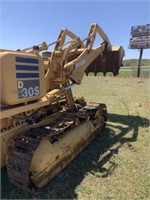
{"type": "MultiPolygon", "coordinates": [[[[139,58],[128,48],[131,26],[150,23],[149,0],[0,0],[0,48],[22,49],[55,41],[62,28],[81,39],[98,23],[113,45],[122,45],[125,58],[139,58]]],[[[144,50],[143,58],[150,58],[144,50]]]]}

